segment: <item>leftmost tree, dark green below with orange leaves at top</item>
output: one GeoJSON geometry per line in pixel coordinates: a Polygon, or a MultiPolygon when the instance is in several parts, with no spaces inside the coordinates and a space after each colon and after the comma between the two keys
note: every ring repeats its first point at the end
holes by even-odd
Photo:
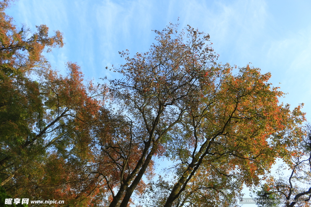
{"type": "MultiPolygon", "coordinates": [[[[6,171],[9,166],[12,168],[9,160],[12,160],[16,152],[20,151],[20,147],[23,146],[22,148],[25,149],[38,138],[33,137],[34,133],[30,126],[37,122],[35,115],[42,113],[41,97],[37,90],[37,82],[31,81],[25,75],[32,71],[39,72],[37,70],[39,68],[48,67],[41,55],[44,47],[63,46],[62,34],[56,31],[55,36],[48,37],[48,28],[45,25],[37,27],[38,33],[26,38],[27,30],[21,29],[18,32],[12,25],[12,18],[5,15],[4,9],[7,4],[8,1],[0,4],[0,130],[2,142],[0,165],[2,176],[7,174],[3,174],[3,171],[6,171]],[[25,138],[27,141],[23,143],[25,138]]],[[[17,162],[18,160],[16,159],[17,162]]],[[[13,178],[16,172],[17,169],[8,173],[8,176],[2,177],[1,186],[13,178]]]]}

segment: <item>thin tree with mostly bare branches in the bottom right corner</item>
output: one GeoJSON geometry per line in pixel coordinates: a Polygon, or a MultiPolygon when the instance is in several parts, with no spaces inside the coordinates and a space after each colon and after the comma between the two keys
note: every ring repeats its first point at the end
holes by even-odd
{"type": "MultiPolygon", "coordinates": [[[[287,146],[291,153],[290,160],[284,160],[276,176],[269,176],[260,190],[259,199],[272,197],[280,201],[279,206],[309,206],[311,198],[311,128],[305,126],[305,134],[296,142],[287,146]],[[288,169],[287,169],[288,167],[288,169]],[[288,175],[286,169],[289,170],[288,175]]],[[[265,203],[259,204],[264,206],[265,203]]]]}

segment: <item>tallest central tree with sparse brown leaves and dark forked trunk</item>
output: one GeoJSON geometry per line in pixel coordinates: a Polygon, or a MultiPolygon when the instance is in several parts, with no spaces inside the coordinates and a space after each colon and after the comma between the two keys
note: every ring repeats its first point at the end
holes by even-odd
{"type": "Polygon", "coordinates": [[[212,67],[216,64],[216,54],[211,47],[202,48],[209,36],[190,38],[184,43],[183,33],[177,34],[175,29],[176,25],[169,25],[163,31],[156,31],[158,43],[150,52],[137,53],[134,58],[120,52],[127,56],[127,64],[114,70],[123,74],[124,79],[111,80],[110,93],[129,117],[131,142],[120,147],[120,151],[126,153],[118,157],[122,163],[121,178],[110,207],[128,205],[134,189],[152,164],[152,156],[160,150],[159,143],[168,132],[180,128],[178,123],[187,110],[188,100],[200,93],[200,80],[204,77],[212,82],[218,73],[218,68],[212,67]],[[177,37],[171,38],[171,35],[177,37]],[[210,68],[209,74],[207,68],[210,68]],[[131,148],[137,148],[140,153],[134,153],[131,148]],[[138,156],[132,169],[127,166],[131,156],[138,156]]]}

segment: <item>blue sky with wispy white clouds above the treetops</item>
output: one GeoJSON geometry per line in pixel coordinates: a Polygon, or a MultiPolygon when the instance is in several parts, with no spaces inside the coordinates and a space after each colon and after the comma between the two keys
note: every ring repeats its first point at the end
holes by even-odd
{"type": "MultiPolygon", "coordinates": [[[[251,62],[281,91],[281,101],[311,116],[311,1],[287,0],[19,0],[7,14],[32,31],[46,24],[64,34],[63,48],[47,54],[61,72],[77,62],[85,77],[111,77],[106,66],[124,63],[118,51],[147,52],[152,29],[169,22],[210,34],[219,61],[240,67],[251,62]],[[279,84],[281,83],[281,84],[279,84]]],[[[115,74],[115,73],[114,73],[115,74]]],[[[113,77],[111,77],[113,78],[113,77]]],[[[309,121],[311,121],[309,119],[309,121]]]]}

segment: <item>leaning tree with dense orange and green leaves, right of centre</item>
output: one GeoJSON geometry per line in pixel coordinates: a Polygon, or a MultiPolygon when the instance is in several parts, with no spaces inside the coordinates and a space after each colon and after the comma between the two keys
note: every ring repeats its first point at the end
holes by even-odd
{"type": "Polygon", "coordinates": [[[163,206],[230,206],[243,184],[258,185],[275,158],[288,154],[283,146],[302,135],[303,114],[277,104],[281,92],[266,84],[269,76],[246,67],[204,86],[211,87],[204,101],[190,105],[184,130],[167,143],[179,162],[163,206]]]}

